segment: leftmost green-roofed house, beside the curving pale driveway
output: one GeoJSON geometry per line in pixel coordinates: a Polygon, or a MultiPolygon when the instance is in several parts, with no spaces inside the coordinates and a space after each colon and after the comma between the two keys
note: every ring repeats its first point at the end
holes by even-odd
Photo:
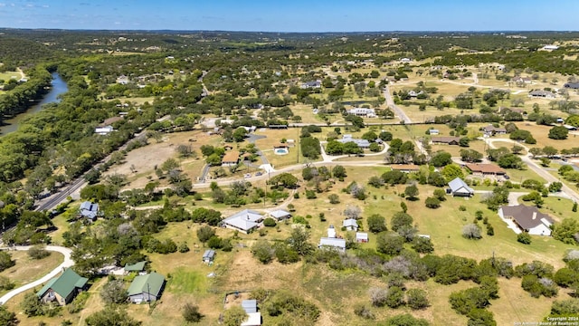
{"type": "Polygon", "coordinates": [[[42,302],[57,302],[59,305],[70,303],[79,292],[87,289],[88,279],[74,273],[70,268],[59,277],[46,283],[36,296],[42,302]]]}

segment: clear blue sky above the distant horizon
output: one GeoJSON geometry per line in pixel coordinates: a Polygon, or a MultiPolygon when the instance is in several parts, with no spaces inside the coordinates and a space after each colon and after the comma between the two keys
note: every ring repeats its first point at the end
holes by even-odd
{"type": "Polygon", "coordinates": [[[255,32],[577,31],[578,0],[0,0],[0,27],[255,32]]]}

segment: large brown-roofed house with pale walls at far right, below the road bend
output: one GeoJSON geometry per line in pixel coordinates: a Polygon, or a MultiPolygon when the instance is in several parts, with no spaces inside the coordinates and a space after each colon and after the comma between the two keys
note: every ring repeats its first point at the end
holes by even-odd
{"type": "Polygon", "coordinates": [[[512,220],[517,227],[529,235],[551,235],[553,219],[539,212],[536,206],[501,206],[498,216],[504,220],[512,220]]]}

